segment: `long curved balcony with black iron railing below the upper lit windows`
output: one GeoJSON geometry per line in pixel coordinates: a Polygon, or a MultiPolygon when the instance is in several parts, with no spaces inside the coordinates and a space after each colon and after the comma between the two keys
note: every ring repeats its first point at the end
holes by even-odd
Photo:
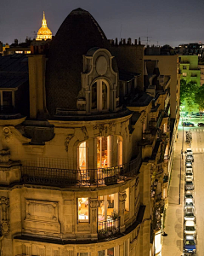
{"type": "Polygon", "coordinates": [[[139,173],[142,157],[127,164],[110,168],[70,170],[60,168],[21,166],[21,182],[54,187],[111,185],[127,180],[139,173]]]}

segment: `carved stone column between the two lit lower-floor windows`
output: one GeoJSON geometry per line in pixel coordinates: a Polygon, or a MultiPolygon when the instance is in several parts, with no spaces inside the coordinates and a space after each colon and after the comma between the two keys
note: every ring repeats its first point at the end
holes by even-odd
{"type": "Polygon", "coordinates": [[[90,224],[91,224],[91,239],[98,239],[98,219],[97,219],[97,211],[98,211],[98,198],[90,198],[90,224]]]}

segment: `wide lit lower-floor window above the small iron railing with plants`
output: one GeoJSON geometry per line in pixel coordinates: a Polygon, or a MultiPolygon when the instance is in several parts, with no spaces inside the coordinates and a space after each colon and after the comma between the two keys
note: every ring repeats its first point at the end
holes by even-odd
{"type": "Polygon", "coordinates": [[[117,218],[118,194],[102,195],[98,197],[98,220],[106,221],[117,218]]]}

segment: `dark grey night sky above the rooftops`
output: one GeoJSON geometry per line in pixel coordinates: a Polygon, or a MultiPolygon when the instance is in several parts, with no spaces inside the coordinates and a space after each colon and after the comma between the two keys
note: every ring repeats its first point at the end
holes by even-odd
{"type": "Polygon", "coordinates": [[[53,35],[72,9],[94,16],[107,38],[141,38],[150,44],[204,43],[203,0],[7,0],[1,1],[0,41],[25,42],[42,24],[42,12],[53,35]]]}

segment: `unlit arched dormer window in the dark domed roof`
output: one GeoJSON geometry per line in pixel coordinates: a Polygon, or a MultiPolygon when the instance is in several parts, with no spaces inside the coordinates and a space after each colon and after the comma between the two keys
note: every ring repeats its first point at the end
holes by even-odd
{"type": "Polygon", "coordinates": [[[107,111],[110,108],[110,87],[104,79],[97,80],[92,85],[91,109],[92,111],[107,111]]]}

